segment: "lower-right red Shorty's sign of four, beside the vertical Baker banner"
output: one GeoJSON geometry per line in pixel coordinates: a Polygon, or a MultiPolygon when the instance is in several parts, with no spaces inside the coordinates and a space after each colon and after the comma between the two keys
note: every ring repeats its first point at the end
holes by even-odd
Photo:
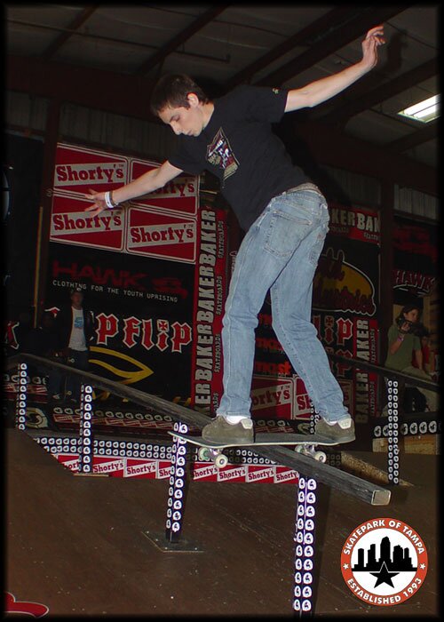
{"type": "Polygon", "coordinates": [[[137,255],[194,263],[196,220],[130,207],[126,250],[137,255]]]}

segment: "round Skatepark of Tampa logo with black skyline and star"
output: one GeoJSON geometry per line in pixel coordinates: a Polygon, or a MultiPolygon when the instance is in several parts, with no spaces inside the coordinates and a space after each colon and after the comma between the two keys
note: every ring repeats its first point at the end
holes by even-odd
{"type": "Polygon", "coordinates": [[[407,523],[372,519],[362,522],[345,540],[341,570],[346,585],[361,601],[396,605],[424,584],[427,550],[407,523]]]}

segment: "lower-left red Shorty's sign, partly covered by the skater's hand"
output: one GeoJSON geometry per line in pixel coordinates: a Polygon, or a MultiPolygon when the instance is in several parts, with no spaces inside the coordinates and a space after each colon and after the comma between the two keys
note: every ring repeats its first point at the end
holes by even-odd
{"type": "Polygon", "coordinates": [[[113,251],[123,250],[123,211],[102,211],[91,216],[84,211],[88,200],[71,196],[52,197],[52,242],[82,244],[113,251]]]}

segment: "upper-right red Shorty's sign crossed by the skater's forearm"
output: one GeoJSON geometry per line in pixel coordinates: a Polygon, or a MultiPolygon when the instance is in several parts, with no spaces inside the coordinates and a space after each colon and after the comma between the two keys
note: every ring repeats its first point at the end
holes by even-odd
{"type": "MultiPolygon", "coordinates": [[[[158,163],[131,160],[129,180],[137,179],[140,175],[158,167],[158,163]]],[[[198,177],[178,175],[178,177],[171,179],[165,186],[145,197],[136,197],[131,203],[154,209],[158,207],[161,208],[162,211],[180,212],[188,214],[189,216],[194,216],[197,213],[198,189],[198,177]]]]}

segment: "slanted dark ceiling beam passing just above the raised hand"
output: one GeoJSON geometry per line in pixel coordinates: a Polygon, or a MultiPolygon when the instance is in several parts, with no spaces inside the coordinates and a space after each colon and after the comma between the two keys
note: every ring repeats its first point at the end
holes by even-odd
{"type": "Polygon", "coordinates": [[[377,6],[366,8],[353,19],[322,36],[321,41],[293,60],[285,63],[268,76],[258,80],[260,86],[280,86],[290,78],[313,67],[317,62],[337,52],[340,48],[364,36],[370,28],[382,24],[400,12],[406,11],[411,4],[402,6],[377,6]]]}

